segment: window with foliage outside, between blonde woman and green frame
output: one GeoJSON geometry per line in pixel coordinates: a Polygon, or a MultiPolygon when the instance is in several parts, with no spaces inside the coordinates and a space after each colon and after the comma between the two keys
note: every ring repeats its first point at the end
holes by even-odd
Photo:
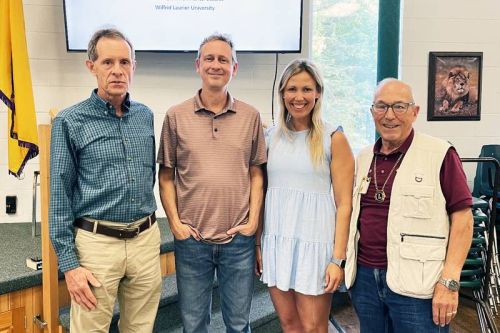
{"type": "Polygon", "coordinates": [[[375,139],[378,0],[313,0],[312,60],[325,80],[323,118],[342,125],[357,153],[375,139]]]}

